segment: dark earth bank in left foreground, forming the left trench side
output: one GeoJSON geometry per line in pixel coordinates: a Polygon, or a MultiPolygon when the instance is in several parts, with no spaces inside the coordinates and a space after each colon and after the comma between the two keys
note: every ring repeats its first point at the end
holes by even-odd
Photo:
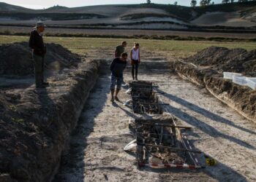
{"type": "Polygon", "coordinates": [[[0,90],[0,181],[50,181],[99,64],[65,69],[48,79],[47,89],[0,90]]]}

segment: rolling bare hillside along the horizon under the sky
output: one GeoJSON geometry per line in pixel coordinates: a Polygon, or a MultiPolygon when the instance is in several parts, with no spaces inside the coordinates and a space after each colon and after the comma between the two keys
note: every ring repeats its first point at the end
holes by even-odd
{"type": "Polygon", "coordinates": [[[80,25],[108,28],[187,29],[256,26],[256,2],[182,7],[167,4],[100,5],[26,9],[0,3],[1,24],[80,25]]]}

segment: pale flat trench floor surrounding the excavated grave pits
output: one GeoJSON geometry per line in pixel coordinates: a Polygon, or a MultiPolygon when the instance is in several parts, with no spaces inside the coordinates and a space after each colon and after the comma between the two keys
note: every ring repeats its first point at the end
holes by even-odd
{"type": "MultiPolygon", "coordinates": [[[[218,160],[203,170],[138,169],[135,153],[123,147],[134,138],[129,131],[132,111],[110,103],[110,76],[100,76],[86,103],[70,149],[55,181],[255,181],[255,124],[200,89],[171,74],[165,60],[148,58],[139,79],[152,81],[165,92],[167,111],[191,125],[189,139],[196,149],[218,160]]],[[[129,73],[125,75],[130,78],[129,73]]],[[[129,98],[124,90],[119,97],[129,98]]]]}

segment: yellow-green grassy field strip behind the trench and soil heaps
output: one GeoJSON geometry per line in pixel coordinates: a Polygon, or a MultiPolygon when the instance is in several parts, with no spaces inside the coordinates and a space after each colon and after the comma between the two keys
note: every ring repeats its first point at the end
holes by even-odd
{"type": "MultiPolygon", "coordinates": [[[[28,41],[28,36],[0,36],[0,44],[13,43],[17,41],[28,41]]],[[[108,38],[80,38],[80,37],[45,37],[46,43],[56,43],[67,47],[72,52],[86,54],[91,50],[110,50],[124,39],[108,38]]],[[[236,42],[236,41],[174,41],[174,40],[153,40],[153,39],[127,39],[128,47],[133,46],[133,42],[139,42],[141,50],[157,51],[166,55],[187,57],[195,54],[206,47],[217,46],[233,48],[244,48],[254,50],[256,42],[236,42]]],[[[100,52],[99,52],[100,53],[100,52]]],[[[100,56],[99,56],[100,57],[100,56]]],[[[102,58],[104,56],[102,55],[102,58]]]]}

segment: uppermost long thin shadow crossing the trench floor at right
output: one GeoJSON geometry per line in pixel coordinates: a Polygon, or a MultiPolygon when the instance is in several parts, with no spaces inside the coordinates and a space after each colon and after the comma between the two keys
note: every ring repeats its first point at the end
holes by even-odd
{"type": "MultiPolygon", "coordinates": [[[[163,92],[162,90],[159,90],[160,92],[163,92]]],[[[193,104],[193,103],[189,103],[187,100],[184,100],[182,98],[178,98],[175,95],[172,95],[170,93],[164,92],[165,94],[163,95],[166,98],[169,98],[170,100],[173,100],[174,102],[181,104],[181,106],[185,106],[187,108],[189,108],[192,111],[197,112],[198,114],[201,114],[205,117],[207,117],[208,119],[214,120],[216,122],[221,122],[223,124],[228,124],[232,127],[236,127],[238,130],[243,130],[244,132],[249,132],[251,134],[256,134],[256,132],[246,129],[244,127],[240,127],[237,126],[236,124],[234,124],[233,122],[231,122],[228,119],[223,118],[222,116],[219,116],[217,114],[212,113],[211,111],[207,111],[205,108],[200,108],[199,106],[193,104]]]]}

